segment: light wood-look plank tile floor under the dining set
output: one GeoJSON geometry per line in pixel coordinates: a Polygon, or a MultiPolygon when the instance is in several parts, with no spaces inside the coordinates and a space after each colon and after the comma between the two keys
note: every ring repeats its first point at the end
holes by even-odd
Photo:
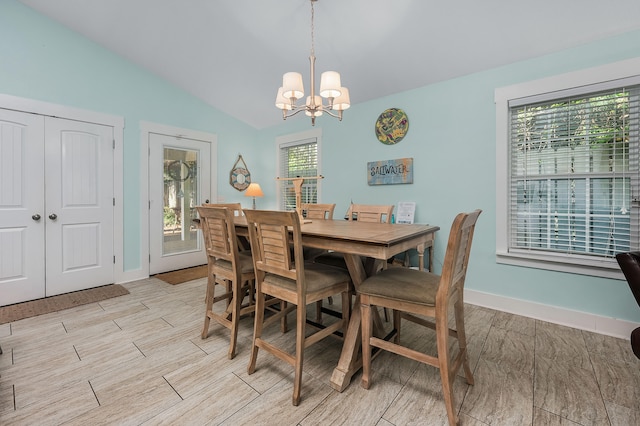
{"type": "MultiPolygon", "coordinates": [[[[129,295],[0,325],[1,425],[447,424],[435,368],[383,353],[371,389],[358,373],[339,393],[329,380],[340,342],[325,339],[305,353],[294,407],[287,364],[261,352],[247,375],[250,317],[233,360],[226,329],[212,323],[200,338],[204,279],[125,287],[129,295]]],[[[475,385],[456,378],[461,424],[640,424],[640,361],[627,340],[465,309],[475,385]]],[[[272,328],[293,345],[293,330],[272,328]]],[[[434,350],[429,332],[411,324],[403,341],[434,350]]]]}

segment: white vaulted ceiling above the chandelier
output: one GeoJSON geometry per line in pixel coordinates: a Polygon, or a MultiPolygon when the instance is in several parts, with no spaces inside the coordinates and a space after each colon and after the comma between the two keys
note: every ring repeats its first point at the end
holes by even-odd
{"type": "MultiPolygon", "coordinates": [[[[309,0],[21,2],[257,129],[282,122],[284,72],[309,92],[309,0]]],[[[339,71],[355,105],[640,29],[639,16],[638,0],[318,0],[316,74],[339,71]]]]}

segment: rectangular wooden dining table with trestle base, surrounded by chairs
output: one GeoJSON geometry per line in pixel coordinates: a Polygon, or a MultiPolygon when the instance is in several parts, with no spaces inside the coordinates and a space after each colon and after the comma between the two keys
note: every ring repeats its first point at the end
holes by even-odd
{"type": "MultiPolygon", "coordinates": [[[[337,391],[342,392],[349,385],[351,377],[362,367],[358,286],[379,269],[379,262],[386,262],[410,249],[418,251],[420,269],[424,269],[424,251],[428,249],[428,269],[431,270],[433,242],[439,229],[439,226],[434,225],[347,220],[313,220],[302,224],[302,244],[343,253],[356,288],[355,303],[344,336],[340,360],[331,376],[331,386],[337,391]]],[[[241,236],[247,234],[244,216],[236,217],[236,232],[241,236]]]]}

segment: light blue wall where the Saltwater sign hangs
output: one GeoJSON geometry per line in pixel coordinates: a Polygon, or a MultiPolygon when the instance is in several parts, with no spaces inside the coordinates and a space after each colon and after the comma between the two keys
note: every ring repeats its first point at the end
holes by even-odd
{"type": "MultiPolygon", "coordinates": [[[[633,32],[371,102],[358,104],[357,94],[352,93],[356,104],[345,112],[342,122],[325,117],[316,122],[322,128],[321,201],[337,203],[338,215],[351,200],[415,201],[416,221],[442,228],[434,256],[438,270],[454,216],[481,208],[467,288],[640,322],[640,310],[624,281],[496,264],[494,104],[498,87],[633,58],[639,54],[639,45],[640,32],[633,32]],[[387,146],[377,141],[374,123],[391,107],[408,114],[410,128],[400,143],[387,146]],[[414,159],[412,185],[367,185],[367,162],[405,157],[414,159]]],[[[262,132],[261,144],[272,149],[277,136],[309,127],[308,119],[289,119],[262,132]]],[[[275,167],[270,173],[276,173],[275,167]]]]}

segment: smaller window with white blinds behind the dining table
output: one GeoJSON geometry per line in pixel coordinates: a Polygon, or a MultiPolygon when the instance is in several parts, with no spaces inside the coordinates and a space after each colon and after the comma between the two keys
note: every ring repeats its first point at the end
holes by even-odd
{"type": "MultiPolygon", "coordinates": [[[[305,177],[318,175],[318,141],[308,138],[279,146],[280,177],[305,177]]],[[[305,179],[302,183],[302,202],[318,202],[318,180],[305,179]]],[[[280,208],[295,210],[296,193],[292,181],[279,181],[280,208]]]]}

